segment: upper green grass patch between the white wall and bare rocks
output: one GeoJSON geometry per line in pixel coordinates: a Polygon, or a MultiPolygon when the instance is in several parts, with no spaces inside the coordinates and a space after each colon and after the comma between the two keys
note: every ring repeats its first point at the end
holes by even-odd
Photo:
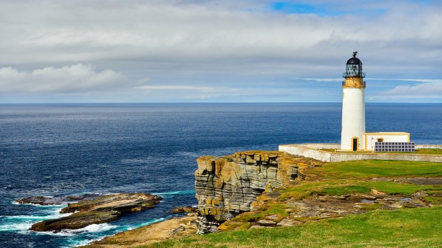
{"type": "Polygon", "coordinates": [[[389,194],[411,195],[416,191],[442,190],[442,185],[400,184],[371,181],[369,178],[409,178],[442,176],[442,163],[416,161],[348,161],[326,163],[308,171],[315,181],[301,181],[296,187],[276,189],[283,198],[302,199],[314,193],[321,195],[346,195],[368,193],[376,189],[389,194]]]}

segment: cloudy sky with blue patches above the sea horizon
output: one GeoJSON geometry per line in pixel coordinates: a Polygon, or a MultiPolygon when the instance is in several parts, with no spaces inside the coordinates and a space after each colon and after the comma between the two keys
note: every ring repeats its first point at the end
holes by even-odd
{"type": "Polygon", "coordinates": [[[0,0],[0,103],[442,102],[442,1],[0,0]]]}

